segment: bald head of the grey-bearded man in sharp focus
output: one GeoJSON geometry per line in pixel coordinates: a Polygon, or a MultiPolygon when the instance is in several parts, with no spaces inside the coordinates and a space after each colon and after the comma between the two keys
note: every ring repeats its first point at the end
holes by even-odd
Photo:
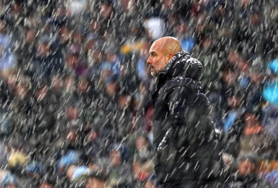
{"type": "Polygon", "coordinates": [[[162,37],[154,41],[149,51],[150,56],[147,59],[151,75],[157,77],[179,51],[182,51],[182,46],[174,37],[162,37]]]}

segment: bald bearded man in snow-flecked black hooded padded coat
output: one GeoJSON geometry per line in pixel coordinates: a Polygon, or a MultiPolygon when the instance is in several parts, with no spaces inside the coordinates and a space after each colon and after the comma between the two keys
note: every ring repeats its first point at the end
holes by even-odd
{"type": "Polygon", "coordinates": [[[200,87],[202,64],[163,37],[147,59],[157,77],[153,94],[153,160],[162,187],[224,187],[221,148],[200,87]]]}

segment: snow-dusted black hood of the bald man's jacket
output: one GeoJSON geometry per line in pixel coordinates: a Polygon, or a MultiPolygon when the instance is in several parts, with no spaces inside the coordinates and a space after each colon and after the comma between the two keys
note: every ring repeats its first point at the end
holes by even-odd
{"type": "Polygon", "coordinates": [[[184,76],[201,81],[204,69],[201,62],[189,55],[186,51],[180,51],[168,62],[159,77],[184,76]]]}

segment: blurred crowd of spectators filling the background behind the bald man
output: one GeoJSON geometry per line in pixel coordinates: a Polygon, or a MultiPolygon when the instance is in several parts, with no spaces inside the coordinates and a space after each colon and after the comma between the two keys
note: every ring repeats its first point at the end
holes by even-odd
{"type": "Polygon", "coordinates": [[[158,188],[146,60],[202,62],[227,186],[278,186],[276,0],[0,1],[0,187],[158,188]]]}

